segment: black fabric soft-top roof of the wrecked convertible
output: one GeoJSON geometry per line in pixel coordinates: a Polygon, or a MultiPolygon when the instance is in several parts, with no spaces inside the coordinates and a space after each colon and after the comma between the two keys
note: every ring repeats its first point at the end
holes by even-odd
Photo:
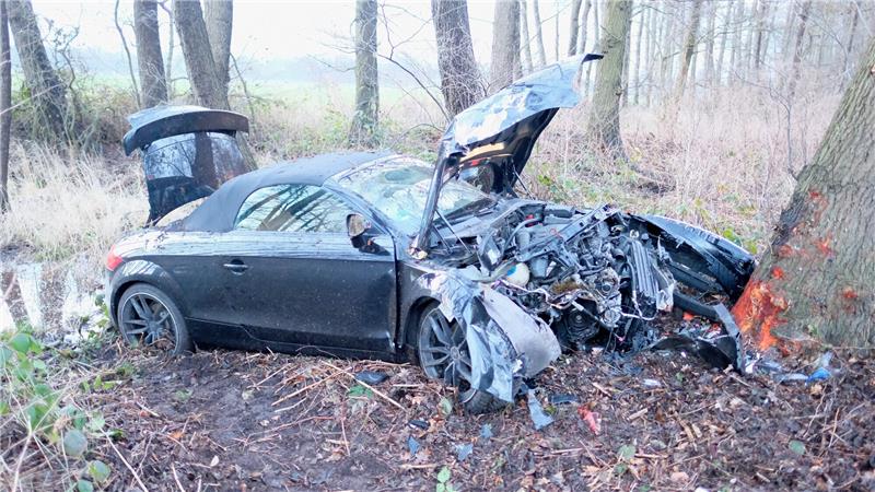
{"type": "Polygon", "coordinates": [[[314,157],[279,162],[252,173],[240,175],[203,200],[183,221],[185,231],[226,232],[234,229],[234,219],[246,197],[253,191],[273,185],[322,186],[331,176],[368,162],[390,155],[388,152],[351,152],[322,154],[314,157]]]}

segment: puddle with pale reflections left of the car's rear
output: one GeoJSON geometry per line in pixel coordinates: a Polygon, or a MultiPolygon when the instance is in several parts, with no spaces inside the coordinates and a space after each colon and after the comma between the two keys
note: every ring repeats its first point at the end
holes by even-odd
{"type": "Polygon", "coordinates": [[[69,265],[40,262],[0,267],[0,331],[27,323],[40,331],[77,330],[97,311],[97,283],[69,265]]]}

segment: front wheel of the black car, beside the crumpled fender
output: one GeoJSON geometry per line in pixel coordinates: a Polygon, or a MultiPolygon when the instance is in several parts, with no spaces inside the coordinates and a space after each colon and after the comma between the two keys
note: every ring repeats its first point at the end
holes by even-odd
{"type": "Polygon", "coordinates": [[[416,335],[416,360],[422,372],[431,379],[456,386],[459,403],[467,413],[488,413],[504,407],[492,395],[471,388],[470,356],[458,321],[447,321],[438,305],[432,305],[420,315],[416,335]]]}

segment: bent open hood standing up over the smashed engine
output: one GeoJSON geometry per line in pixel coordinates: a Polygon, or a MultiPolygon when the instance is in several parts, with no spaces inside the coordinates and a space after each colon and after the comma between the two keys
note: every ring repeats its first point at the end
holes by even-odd
{"type": "Polygon", "coordinates": [[[581,55],[526,75],[456,115],[441,139],[425,210],[413,249],[424,251],[443,184],[465,168],[492,166],[491,191],[508,194],[528,162],[538,137],[559,108],[580,102],[581,55]]]}

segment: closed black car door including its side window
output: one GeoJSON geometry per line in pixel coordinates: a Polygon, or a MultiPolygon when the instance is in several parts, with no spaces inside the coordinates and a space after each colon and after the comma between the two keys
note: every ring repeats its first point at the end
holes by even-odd
{"type": "Polygon", "coordinates": [[[393,351],[397,316],[395,251],[352,246],[349,213],[332,191],[310,185],[269,186],[243,203],[223,238],[223,297],[233,323],[284,345],[393,351]]]}

